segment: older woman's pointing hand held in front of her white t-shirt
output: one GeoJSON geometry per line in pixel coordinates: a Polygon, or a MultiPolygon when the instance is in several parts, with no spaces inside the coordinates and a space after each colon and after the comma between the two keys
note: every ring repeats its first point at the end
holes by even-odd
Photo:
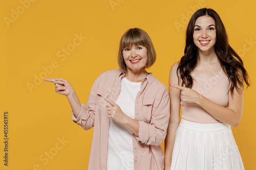
{"type": "Polygon", "coordinates": [[[105,98],[106,102],[109,102],[111,106],[107,106],[106,109],[108,110],[108,117],[113,119],[115,122],[119,124],[125,124],[125,120],[127,115],[123,113],[121,108],[112,100],[105,98]]]}

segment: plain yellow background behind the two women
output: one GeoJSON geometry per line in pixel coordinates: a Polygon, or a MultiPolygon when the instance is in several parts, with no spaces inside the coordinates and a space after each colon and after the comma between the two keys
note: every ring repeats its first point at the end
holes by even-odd
{"type": "Polygon", "coordinates": [[[232,130],[245,169],[255,168],[254,0],[28,2],[0,1],[0,169],[87,169],[93,129],[84,131],[73,123],[66,97],[55,93],[53,83],[35,81],[34,76],[69,80],[85,104],[95,79],[118,68],[121,35],[138,27],[151,36],[158,56],[148,71],[167,87],[170,66],[183,55],[188,18],[202,7],[221,16],[230,45],[249,72],[252,85],[244,91],[243,118],[232,130]],[[87,38],[78,45],[76,35],[87,38]],[[72,52],[65,58],[62,48],[67,47],[72,52]],[[9,113],[8,167],[3,161],[5,111],[9,113]]]}

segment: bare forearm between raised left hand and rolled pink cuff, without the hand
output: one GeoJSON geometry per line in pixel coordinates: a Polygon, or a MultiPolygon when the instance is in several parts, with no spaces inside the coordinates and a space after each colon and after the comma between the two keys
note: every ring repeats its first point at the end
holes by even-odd
{"type": "Polygon", "coordinates": [[[68,96],[69,104],[72,108],[72,112],[74,113],[75,117],[78,117],[78,114],[81,110],[81,103],[76,95],[76,92],[73,90],[68,96]]]}

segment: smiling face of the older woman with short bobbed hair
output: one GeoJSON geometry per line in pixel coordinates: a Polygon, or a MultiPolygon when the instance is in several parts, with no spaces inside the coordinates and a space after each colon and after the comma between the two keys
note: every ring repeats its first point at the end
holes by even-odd
{"type": "Polygon", "coordinates": [[[142,45],[132,45],[122,51],[127,71],[140,72],[145,70],[147,48],[142,45]]]}

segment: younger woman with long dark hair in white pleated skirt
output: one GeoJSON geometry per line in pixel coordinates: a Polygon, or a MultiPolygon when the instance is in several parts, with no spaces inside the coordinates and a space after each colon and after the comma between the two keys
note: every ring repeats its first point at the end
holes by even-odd
{"type": "Polygon", "coordinates": [[[191,17],[184,53],[170,69],[165,169],[244,169],[230,125],[240,123],[248,74],[214,10],[191,17]]]}

